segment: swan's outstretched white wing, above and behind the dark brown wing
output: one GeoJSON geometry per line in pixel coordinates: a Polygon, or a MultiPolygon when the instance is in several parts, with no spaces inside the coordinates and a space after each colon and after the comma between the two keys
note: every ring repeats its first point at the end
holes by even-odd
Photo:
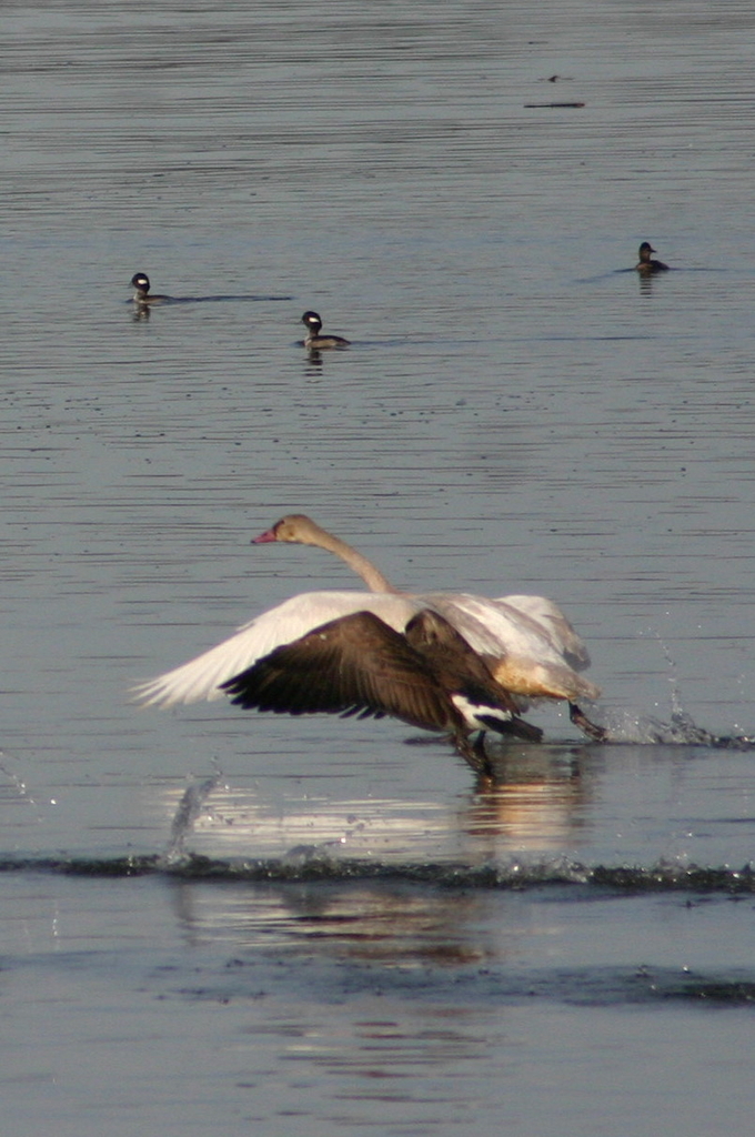
{"type": "Polygon", "coordinates": [[[396,631],[404,631],[420,609],[417,601],[392,592],[301,592],[255,616],[209,652],[134,687],[134,702],[142,706],[169,707],[219,699],[224,697],[221,683],[329,620],[351,612],[374,612],[396,631]]]}

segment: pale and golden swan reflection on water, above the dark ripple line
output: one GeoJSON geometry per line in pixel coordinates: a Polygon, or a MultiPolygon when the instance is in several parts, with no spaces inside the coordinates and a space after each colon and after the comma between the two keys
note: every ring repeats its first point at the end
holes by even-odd
{"type": "MultiPolygon", "coordinates": [[[[348,739],[334,741],[334,757],[347,764],[348,739]]],[[[166,864],[189,850],[202,861],[227,863],[254,847],[259,864],[269,864],[269,872],[260,869],[265,879],[297,880],[313,868],[324,879],[356,879],[358,865],[370,864],[399,872],[423,865],[423,879],[431,882],[446,880],[450,865],[472,871],[495,863],[505,874],[513,862],[516,879],[517,872],[526,874],[533,856],[541,864],[544,856],[584,839],[592,824],[594,760],[600,761],[599,753],[579,742],[511,744],[495,782],[482,779],[463,802],[432,795],[318,797],[309,787],[294,788],[293,796],[288,790],[281,803],[248,786],[229,785],[216,772],[192,780],[183,794],[180,786],[157,792],[151,787],[147,803],[161,824],[173,818],[166,864]]],[[[293,756],[290,762],[296,769],[293,756]]]]}

